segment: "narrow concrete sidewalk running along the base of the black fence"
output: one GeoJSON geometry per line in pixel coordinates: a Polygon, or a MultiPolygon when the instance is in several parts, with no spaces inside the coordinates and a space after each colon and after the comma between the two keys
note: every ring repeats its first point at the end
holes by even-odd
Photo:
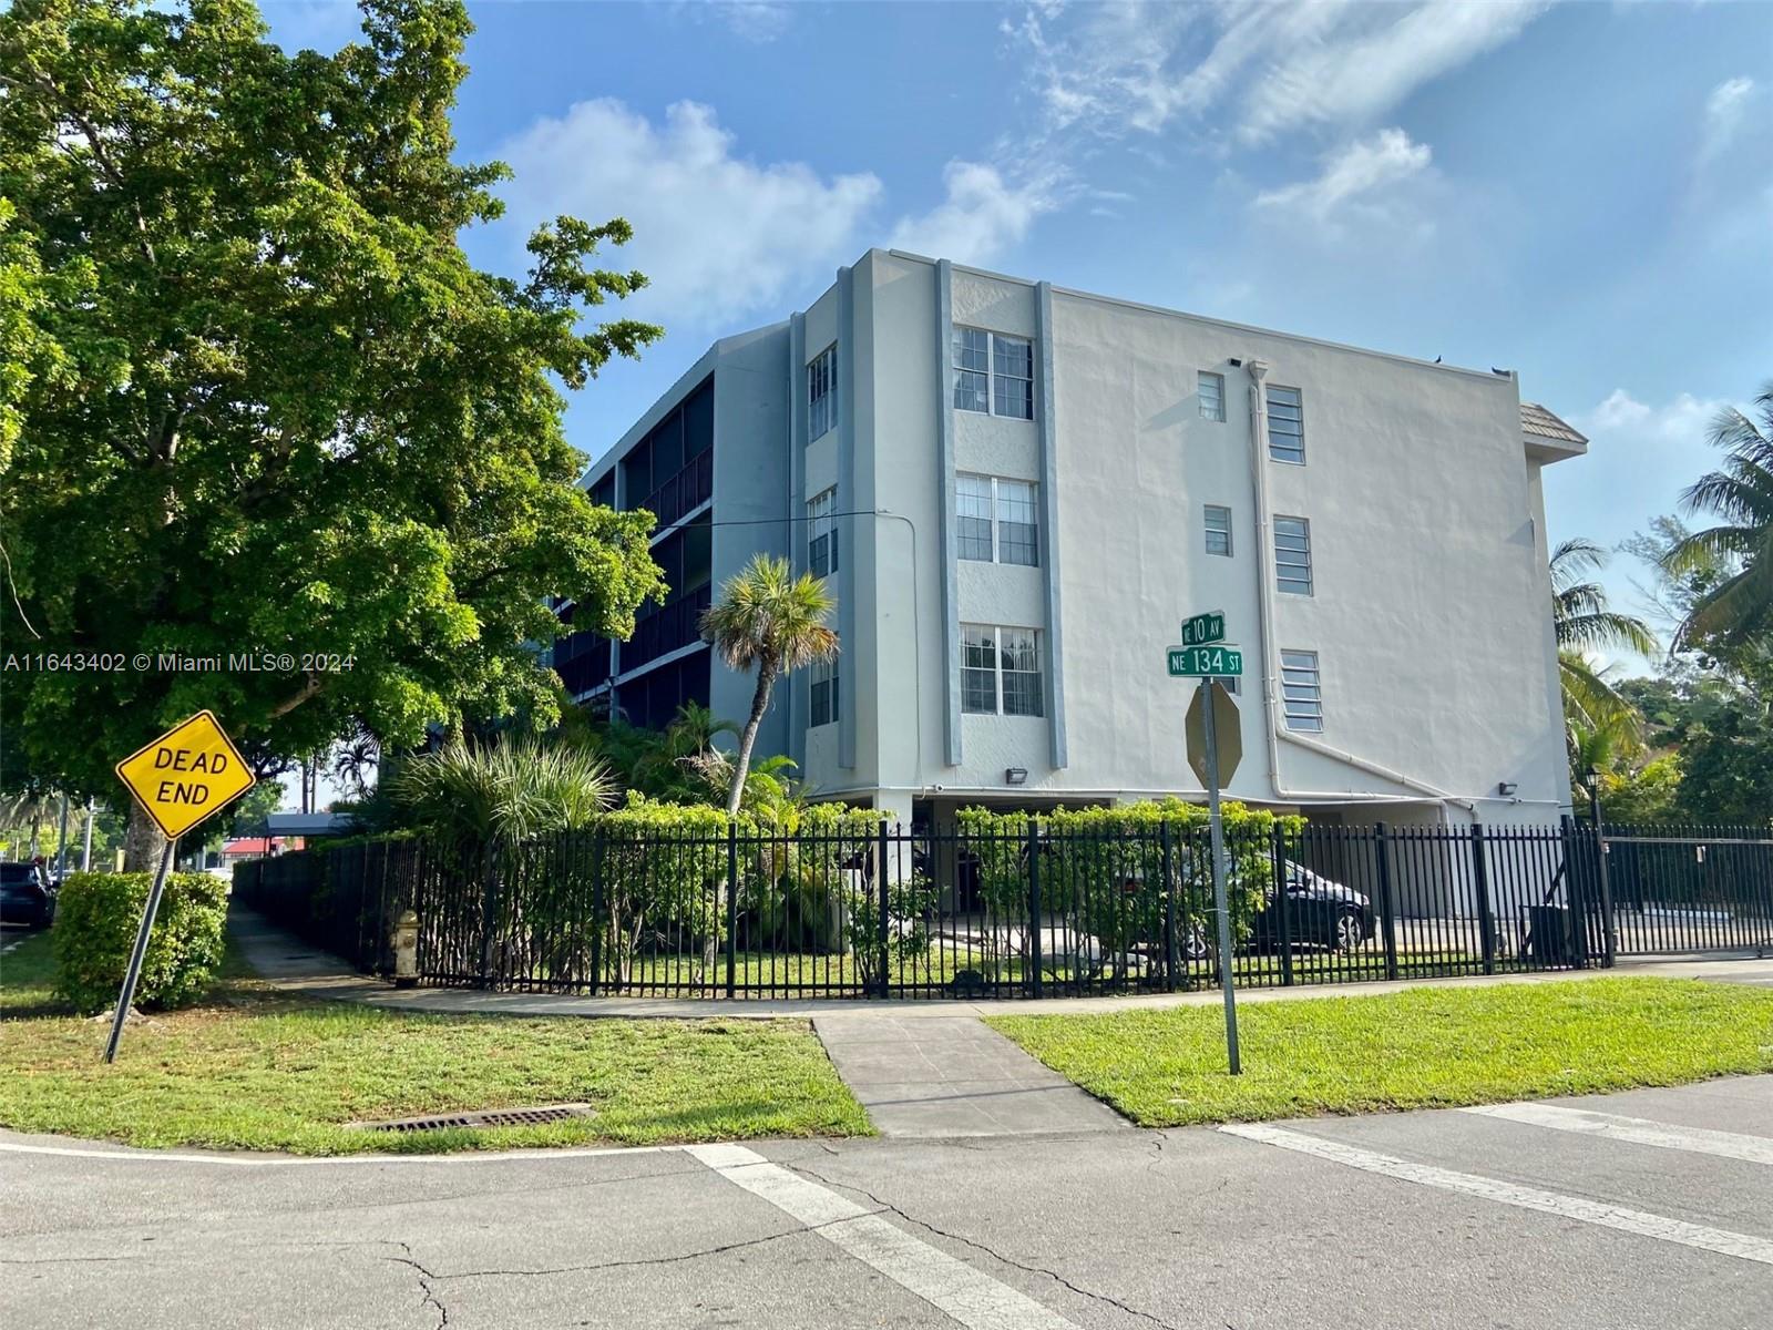
{"type": "MultiPolygon", "coordinates": [[[[356,974],[337,956],[310,947],[294,935],[266,922],[252,910],[234,906],[229,935],[246,963],[280,988],[340,1002],[362,1002],[390,1011],[504,1016],[638,1016],[768,1020],[794,1016],[858,1016],[874,1020],[941,1020],[952,1016],[1073,1014],[1158,1007],[1218,1005],[1218,990],[1193,993],[1128,993],[1094,998],[635,998],[580,997],[573,993],[491,993],[479,988],[395,988],[356,974]]],[[[1606,975],[1660,979],[1709,979],[1773,988],[1773,958],[1741,959],[1690,956],[1622,959],[1613,970],[1551,970],[1544,974],[1472,975],[1466,979],[1399,979],[1365,984],[1294,984],[1293,988],[1239,988],[1238,1002],[1291,1002],[1296,998],[1362,997],[1397,993],[1406,988],[1482,988],[1488,984],[1543,984],[1606,975]]]]}

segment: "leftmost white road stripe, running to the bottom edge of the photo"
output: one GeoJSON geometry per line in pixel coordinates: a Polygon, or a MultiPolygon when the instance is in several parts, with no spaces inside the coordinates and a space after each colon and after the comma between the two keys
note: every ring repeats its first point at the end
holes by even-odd
{"type": "Polygon", "coordinates": [[[968,1330],[1078,1330],[1034,1298],[956,1261],[849,1197],[745,1146],[688,1146],[727,1181],[798,1218],[833,1247],[886,1275],[968,1330]]]}

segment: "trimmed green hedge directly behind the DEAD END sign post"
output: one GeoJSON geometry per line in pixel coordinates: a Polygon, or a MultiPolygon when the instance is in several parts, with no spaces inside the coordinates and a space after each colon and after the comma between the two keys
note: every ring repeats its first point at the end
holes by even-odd
{"type": "MultiPolygon", "coordinates": [[[[55,906],[57,998],[80,1013],[117,1002],[129,949],[142,924],[151,872],[73,872],[55,906]]],[[[222,968],[227,883],[207,872],[174,872],[147,940],[135,1005],[195,1002],[222,968]]]]}

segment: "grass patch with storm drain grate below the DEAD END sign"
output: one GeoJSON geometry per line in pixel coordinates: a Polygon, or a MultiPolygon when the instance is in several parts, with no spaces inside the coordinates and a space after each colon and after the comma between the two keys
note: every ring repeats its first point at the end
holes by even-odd
{"type": "Polygon", "coordinates": [[[285,997],[230,965],[209,1000],[124,1032],[57,1011],[50,938],[0,956],[0,1126],[300,1154],[867,1135],[805,1021],[429,1016],[285,997]],[[355,1119],[590,1103],[527,1128],[355,1119]]]}

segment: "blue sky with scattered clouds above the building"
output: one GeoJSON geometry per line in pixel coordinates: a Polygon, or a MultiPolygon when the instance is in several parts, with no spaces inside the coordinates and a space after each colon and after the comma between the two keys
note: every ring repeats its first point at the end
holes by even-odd
{"type": "MultiPolygon", "coordinates": [[[[668,330],[569,410],[601,452],[707,342],[869,245],[1518,369],[1592,436],[1553,539],[1603,544],[1773,378],[1773,7],[473,4],[456,119],[537,220],[626,216],[668,330]]],[[[346,4],[271,0],[333,48],[346,4]]],[[[1615,598],[1640,571],[1617,555],[1615,598]]]]}

